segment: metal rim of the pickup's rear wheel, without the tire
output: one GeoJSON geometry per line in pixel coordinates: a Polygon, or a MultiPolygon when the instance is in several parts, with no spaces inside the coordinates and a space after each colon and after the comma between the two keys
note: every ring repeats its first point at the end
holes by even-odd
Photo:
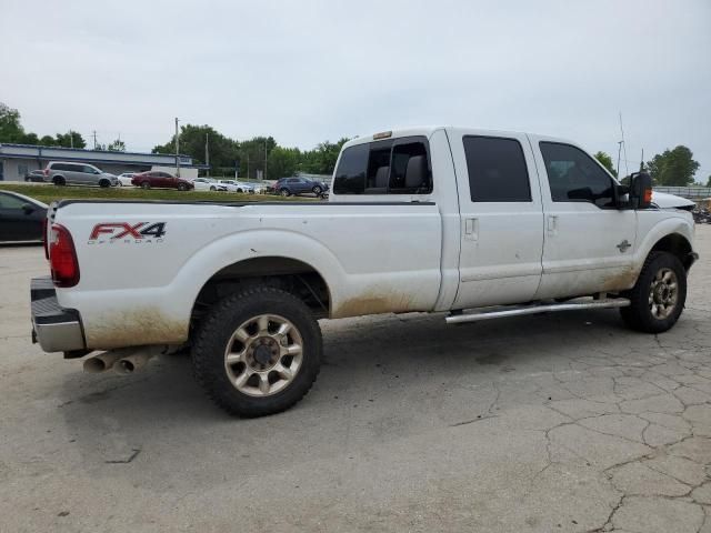
{"type": "Polygon", "coordinates": [[[259,314],[234,330],[224,351],[224,370],[239,392],[270,396],[293,382],[303,362],[297,326],[278,314],[259,314]]]}

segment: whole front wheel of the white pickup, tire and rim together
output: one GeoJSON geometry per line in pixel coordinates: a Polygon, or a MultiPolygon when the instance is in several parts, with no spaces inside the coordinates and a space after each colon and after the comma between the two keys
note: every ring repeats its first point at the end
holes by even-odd
{"type": "Polygon", "coordinates": [[[625,294],[630,306],[622,319],[633,330],[661,333],[671,329],[687,301],[687,271],[675,255],[651,252],[634,286],[625,294]]]}

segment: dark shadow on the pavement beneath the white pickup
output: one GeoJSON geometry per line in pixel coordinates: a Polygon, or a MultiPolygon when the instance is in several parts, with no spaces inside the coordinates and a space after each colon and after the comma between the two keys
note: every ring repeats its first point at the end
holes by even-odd
{"type": "MultiPolygon", "coordinates": [[[[694,325],[682,319],[674,331],[694,325]]],[[[131,376],[72,374],[58,410],[81,465],[103,475],[107,464],[151,454],[200,456],[207,464],[231,451],[230,461],[246,461],[249,470],[249,450],[279,457],[284,442],[312,444],[294,447],[288,461],[307,460],[313,447],[321,456],[340,454],[352,439],[378,445],[497,415],[502,405],[563,399],[547,376],[575,372],[575,358],[657,345],[653,335],[624,329],[610,311],[460,326],[445,325],[442,315],[387,315],[322,326],[326,356],[316,385],[293,409],[263,419],[231,418],[213,406],[192,378],[189,356],[153,360],[131,376]],[[543,385],[531,386],[534,381],[543,385]],[[498,405],[502,388],[513,392],[498,405]]],[[[178,475],[166,469],[163,475],[178,475]]]]}

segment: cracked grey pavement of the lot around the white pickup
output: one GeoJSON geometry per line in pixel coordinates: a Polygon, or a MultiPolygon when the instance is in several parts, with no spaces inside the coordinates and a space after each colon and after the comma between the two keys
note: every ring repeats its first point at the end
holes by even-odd
{"type": "Polygon", "coordinates": [[[711,533],[711,227],[670,332],[617,311],[321,322],[311,393],[230,419],[187,356],[83,374],[30,344],[0,249],[0,531],[711,533]]]}

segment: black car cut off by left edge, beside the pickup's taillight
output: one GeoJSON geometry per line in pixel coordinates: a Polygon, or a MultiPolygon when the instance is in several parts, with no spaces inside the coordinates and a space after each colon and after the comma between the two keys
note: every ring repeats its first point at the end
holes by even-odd
{"type": "Polygon", "coordinates": [[[46,203],[0,191],[0,242],[40,242],[46,218],[46,203]]]}

